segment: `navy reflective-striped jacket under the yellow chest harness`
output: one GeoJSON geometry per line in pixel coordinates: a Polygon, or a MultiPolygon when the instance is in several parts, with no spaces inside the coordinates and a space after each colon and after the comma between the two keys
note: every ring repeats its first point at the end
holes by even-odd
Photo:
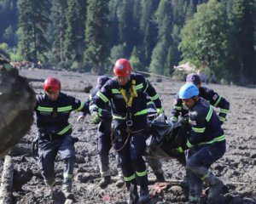
{"type": "Polygon", "coordinates": [[[109,80],[96,94],[95,102],[99,108],[103,108],[104,105],[110,103],[114,121],[126,122],[126,103],[123,95],[120,92],[121,88],[124,88],[126,93],[130,93],[131,80],[136,81],[136,90],[138,96],[133,99],[131,105],[131,121],[132,131],[137,131],[147,127],[147,94],[154,102],[154,105],[158,112],[162,112],[162,106],[158,94],[156,94],[153,86],[139,74],[132,73],[129,82],[125,87],[119,85],[118,79],[114,77],[109,80]]]}

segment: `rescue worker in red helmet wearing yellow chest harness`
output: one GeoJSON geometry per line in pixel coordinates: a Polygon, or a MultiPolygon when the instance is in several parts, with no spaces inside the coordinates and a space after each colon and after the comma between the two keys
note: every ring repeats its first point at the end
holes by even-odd
{"type": "Polygon", "coordinates": [[[145,140],[148,138],[146,94],[154,101],[160,117],[164,112],[153,86],[142,75],[131,73],[131,69],[127,59],[116,61],[113,67],[115,77],[96,94],[95,102],[99,109],[91,116],[92,122],[99,122],[102,108],[110,103],[114,149],[119,154],[125,184],[130,191],[128,203],[146,203],[149,201],[148,174],[143,161],[145,140]],[[140,185],[139,196],[137,184],[140,185]]]}

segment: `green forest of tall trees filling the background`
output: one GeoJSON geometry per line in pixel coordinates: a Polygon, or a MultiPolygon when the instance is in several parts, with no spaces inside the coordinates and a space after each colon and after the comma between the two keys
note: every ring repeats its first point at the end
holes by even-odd
{"type": "Polygon", "coordinates": [[[255,0],[0,0],[0,54],[102,74],[116,59],[173,77],[189,61],[256,84],[255,0]]]}

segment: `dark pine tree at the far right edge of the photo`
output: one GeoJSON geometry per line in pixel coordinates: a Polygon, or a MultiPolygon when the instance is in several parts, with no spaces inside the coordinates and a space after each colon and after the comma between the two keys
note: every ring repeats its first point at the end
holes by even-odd
{"type": "Polygon", "coordinates": [[[232,30],[232,74],[239,73],[236,80],[241,84],[256,82],[255,60],[255,2],[234,0],[230,18],[232,30]],[[238,67],[237,67],[238,66],[238,67]]]}

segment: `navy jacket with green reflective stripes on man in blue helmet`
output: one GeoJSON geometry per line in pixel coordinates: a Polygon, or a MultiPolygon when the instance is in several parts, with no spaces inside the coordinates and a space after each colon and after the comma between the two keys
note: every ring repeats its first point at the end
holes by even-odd
{"type": "Polygon", "coordinates": [[[218,116],[206,99],[200,98],[189,111],[189,122],[192,130],[186,144],[187,148],[194,145],[215,144],[225,140],[218,116]]]}

